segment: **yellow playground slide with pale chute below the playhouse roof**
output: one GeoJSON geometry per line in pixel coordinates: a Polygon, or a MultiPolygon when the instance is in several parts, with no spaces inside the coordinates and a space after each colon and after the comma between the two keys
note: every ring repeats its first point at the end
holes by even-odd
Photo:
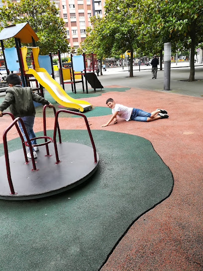
{"type": "Polygon", "coordinates": [[[51,94],[54,100],[62,106],[75,108],[83,112],[93,106],[83,100],[76,100],[71,98],[64,89],[49,75],[44,69],[40,68],[38,64],[39,47],[32,48],[35,70],[28,69],[26,63],[27,47],[23,46],[20,48],[22,53],[24,72],[26,74],[32,74],[35,79],[51,94]]]}

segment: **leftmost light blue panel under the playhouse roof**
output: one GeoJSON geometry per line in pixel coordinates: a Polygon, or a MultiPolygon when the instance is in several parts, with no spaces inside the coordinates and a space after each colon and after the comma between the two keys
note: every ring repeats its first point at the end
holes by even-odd
{"type": "Polygon", "coordinates": [[[16,62],[18,61],[16,48],[15,47],[4,48],[4,54],[8,70],[19,72],[20,65],[19,62],[16,62]]]}

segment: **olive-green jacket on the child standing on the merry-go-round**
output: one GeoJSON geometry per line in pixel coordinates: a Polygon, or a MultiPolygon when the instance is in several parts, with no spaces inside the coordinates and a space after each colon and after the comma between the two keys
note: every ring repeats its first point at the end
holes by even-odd
{"type": "Polygon", "coordinates": [[[0,111],[10,107],[10,112],[15,118],[25,116],[35,116],[33,101],[42,105],[48,105],[49,101],[34,93],[29,87],[19,85],[6,90],[4,101],[0,105],[0,111]]]}

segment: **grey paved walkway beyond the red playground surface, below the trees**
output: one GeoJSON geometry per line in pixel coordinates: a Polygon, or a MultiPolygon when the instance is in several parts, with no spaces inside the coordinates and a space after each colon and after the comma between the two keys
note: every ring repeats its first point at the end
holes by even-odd
{"type": "MultiPolygon", "coordinates": [[[[148,66],[149,67],[149,66],[148,66]]],[[[145,67],[146,68],[146,67],[145,67]]],[[[133,70],[133,77],[129,78],[128,71],[122,71],[122,68],[112,68],[107,70],[98,79],[103,86],[120,85],[124,87],[137,87],[141,89],[163,91],[164,88],[164,70],[157,72],[157,79],[152,80],[151,68],[146,70],[133,70]]],[[[190,67],[177,67],[171,69],[171,91],[184,95],[201,97],[203,95],[203,66],[197,65],[195,68],[195,79],[200,81],[185,82],[190,76],[190,67]]]]}

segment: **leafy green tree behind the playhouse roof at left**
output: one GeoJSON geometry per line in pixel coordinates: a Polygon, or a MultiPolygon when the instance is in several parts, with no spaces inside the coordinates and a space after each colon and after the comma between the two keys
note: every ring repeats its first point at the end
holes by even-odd
{"type": "MultiPolygon", "coordinates": [[[[59,17],[54,3],[49,0],[2,0],[0,8],[0,21],[3,27],[13,23],[28,22],[36,32],[39,40],[36,45],[40,47],[40,54],[49,51],[57,53],[68,51],[68,41],[65,22],[59,17]]],[[[3,28],[1,27],[1,28],[3,28]]]]}

